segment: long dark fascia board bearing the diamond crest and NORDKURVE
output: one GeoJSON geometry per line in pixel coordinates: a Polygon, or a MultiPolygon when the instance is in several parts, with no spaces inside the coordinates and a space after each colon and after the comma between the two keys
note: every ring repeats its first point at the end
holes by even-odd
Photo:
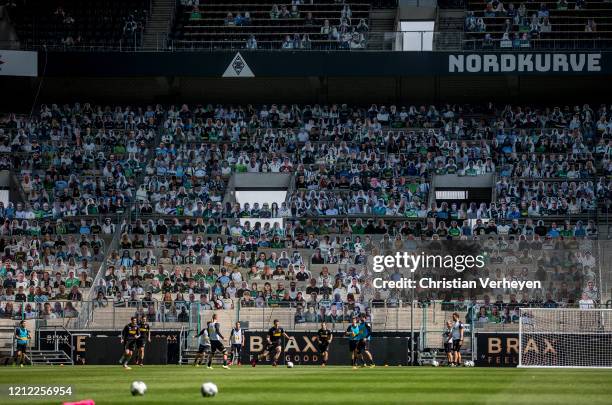
{"type": "Polygon", "coordinates": [[[48,76],[256,77],[599,75],[612,52],[49,52],[48,76]],[[287,69],[291,66],[291,69],[287,69]],[[351,66],[351,69],[346,69],[351,66]]]}

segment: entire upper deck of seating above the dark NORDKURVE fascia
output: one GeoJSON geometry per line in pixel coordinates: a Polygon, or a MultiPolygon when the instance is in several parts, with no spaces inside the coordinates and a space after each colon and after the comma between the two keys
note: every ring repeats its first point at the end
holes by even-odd
{"type": "Polygon", "coordinates": [[[612,6],[604,0],[5,3],[0,42],[14,49],[507,52],[612,46],[612,6]]]}

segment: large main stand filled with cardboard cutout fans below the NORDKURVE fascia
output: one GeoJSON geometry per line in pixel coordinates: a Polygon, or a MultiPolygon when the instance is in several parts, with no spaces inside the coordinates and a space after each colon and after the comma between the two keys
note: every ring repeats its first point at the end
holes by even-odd
{"type": "Polygon", "coordinates": [[[2,316],[114,327],[139,313],[170,327],[214,309],[308,329],[366,312],[406,330],[439,329],[449,310],[511,327],[519,305],[600,301],[606,116],[588,105],[88,103],[11,114],[0,153],[23,200],[0,207],[2,316]],[[228,200],[231,176],[275,172],[295,178],[280,206],[228,200]],[[488,203],[438,204],[430,192],[436,177],[488,174],[488,203]],[[409,297],[375,291],[364,273],[370,255],[446,240],[485,252],[488,274],[544,288],[409,297]]]}

